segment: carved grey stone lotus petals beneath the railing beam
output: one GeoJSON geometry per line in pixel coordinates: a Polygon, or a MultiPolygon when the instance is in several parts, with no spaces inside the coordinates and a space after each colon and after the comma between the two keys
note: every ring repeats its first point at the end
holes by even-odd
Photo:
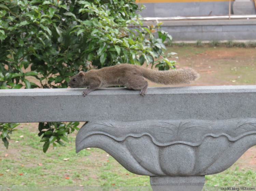
{"type": "Polygon", "coordinates": [[[229,168],[256,145],[256,118],[94,121],[76,136],[76,151],[98,147],[132,173],[202,176],[229,168]]]}

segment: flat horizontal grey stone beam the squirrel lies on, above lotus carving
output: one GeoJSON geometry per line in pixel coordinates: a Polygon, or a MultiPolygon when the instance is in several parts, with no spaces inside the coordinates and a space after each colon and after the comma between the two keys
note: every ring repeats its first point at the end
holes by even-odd
{"type": "Polygon", "coordinates": [[[138,121],[256,117],[256,86],[2,89],[1,122],[138,121]]]}

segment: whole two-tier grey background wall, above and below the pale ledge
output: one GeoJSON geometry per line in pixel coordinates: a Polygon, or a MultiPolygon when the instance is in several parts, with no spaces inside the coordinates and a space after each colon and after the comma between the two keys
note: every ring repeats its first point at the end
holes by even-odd
{"type": "MultiPolygon", "coordinates": [[[[228,15],[228,1],[159,2],[143,3],[141,15],[145,17],[208,16],[228,15]]],[[[256,14],[254,1],[231,1],[231,15],[256,14]]],[[[256,19],[225,20],[161,20],[162,30],[174,41],[197,40],[256,40],[256,19]]],[[[145,21],[147,24],[154,22],[145,21]]]]}

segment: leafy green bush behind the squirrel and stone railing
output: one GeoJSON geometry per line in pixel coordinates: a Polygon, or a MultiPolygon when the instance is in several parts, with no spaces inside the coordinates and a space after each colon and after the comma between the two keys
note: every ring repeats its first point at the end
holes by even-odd
{"type": "MultiPolygon", "coordinates": [[[[0,1],[0,88],[66,88],[81,69],[119,63],[174,68],[168,59],[173,53],[166,55],[163,45],[171,36],[160,30],[161,22],[142,27],[141,8],[135,0],[0,1]]],[[[7,126],[0,124],[0,130],[7,126]]],[[[68,141],[72,126],[77,129],[76,123],[42,126],[44,152],[55,140],[68,141]]],[[[5,145],[8,134],[0,137],[5,145]]]]}

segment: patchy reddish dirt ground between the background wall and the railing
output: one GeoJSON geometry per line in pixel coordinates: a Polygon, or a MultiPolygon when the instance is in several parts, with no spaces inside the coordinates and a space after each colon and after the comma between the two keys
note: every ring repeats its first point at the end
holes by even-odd
{"type": "Polygon", "coordinates": [[[256,85],[256,48],[186,46],[168,51],[178,54],[179,59],[173,59],[177,68],[191,67],[200,73],[198,81],[182,86],[256,85]]]}

